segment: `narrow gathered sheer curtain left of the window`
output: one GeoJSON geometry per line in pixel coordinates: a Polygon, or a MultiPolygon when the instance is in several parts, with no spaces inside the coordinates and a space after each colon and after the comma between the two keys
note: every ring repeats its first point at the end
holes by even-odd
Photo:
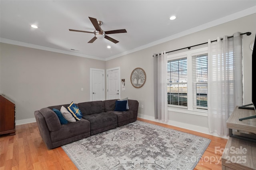
{"type": "Polygon", "coordinates": [[[167,55],[154,54],[154,106],[155,119],[168,121],[167,111],[167,55]]]}

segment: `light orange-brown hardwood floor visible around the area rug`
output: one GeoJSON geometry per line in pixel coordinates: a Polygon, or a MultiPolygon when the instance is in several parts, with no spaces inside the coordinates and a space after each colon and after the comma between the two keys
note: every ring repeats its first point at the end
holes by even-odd
{"type": "MultiPolygon", "coordinates": [[[[221,160],[222,154],[215,153],[215,147],[225,148],[226,139],[145,119],[138,118],[138,120],[211,139],[195,170],[221,170],[221,161],[218,160],[221,160]]],[[[36,123],[16,126],[14,136],[0,136],[0,170],[76,169],[61,147],[52,150],[46,148],[36,123]]]]}

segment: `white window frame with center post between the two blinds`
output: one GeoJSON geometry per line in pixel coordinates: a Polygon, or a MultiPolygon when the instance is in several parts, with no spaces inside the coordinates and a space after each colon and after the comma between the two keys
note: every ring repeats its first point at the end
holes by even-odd
{"type": "Polygon", "coordinates": [[[202,55],[202,54],[208,54],[208,46],[207,47],[200,47],[197,49],[190,49],[182,52],[176,53],[168,53],[167,55],[167,62],[169,60],[175,60],[175,59],[182,59],[184,57],[187,58],[187,107],[181,107],[181,106],[175,106],[175,105],[168,105],[168,111],[174,111],[178,113],[187,113],[192,115],[200,115],[200,116],[208,116],[208,110],[204,109],[196,109],[193,105],[193,65],[192,65],[192,56],[195,55],[202,55]]]}

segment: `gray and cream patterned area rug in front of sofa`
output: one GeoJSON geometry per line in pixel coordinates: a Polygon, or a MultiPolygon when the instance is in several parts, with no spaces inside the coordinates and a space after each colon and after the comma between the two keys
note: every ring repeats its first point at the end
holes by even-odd
{"type": "Polygon", "coordinates": [[[79,170],[192,170],[210,139],[136,121],[62,146],[79,170]]]}

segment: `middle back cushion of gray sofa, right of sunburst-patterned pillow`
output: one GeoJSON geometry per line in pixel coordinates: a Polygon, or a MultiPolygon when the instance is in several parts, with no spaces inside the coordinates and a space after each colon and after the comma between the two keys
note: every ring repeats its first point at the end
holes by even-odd
{"type": "Polygon", "coordinates": [[[103,101],[88,101],[78,103],[78,107],[83,115],[91,115],[93,113],[101,113],[105,111],[103,101]]]}

